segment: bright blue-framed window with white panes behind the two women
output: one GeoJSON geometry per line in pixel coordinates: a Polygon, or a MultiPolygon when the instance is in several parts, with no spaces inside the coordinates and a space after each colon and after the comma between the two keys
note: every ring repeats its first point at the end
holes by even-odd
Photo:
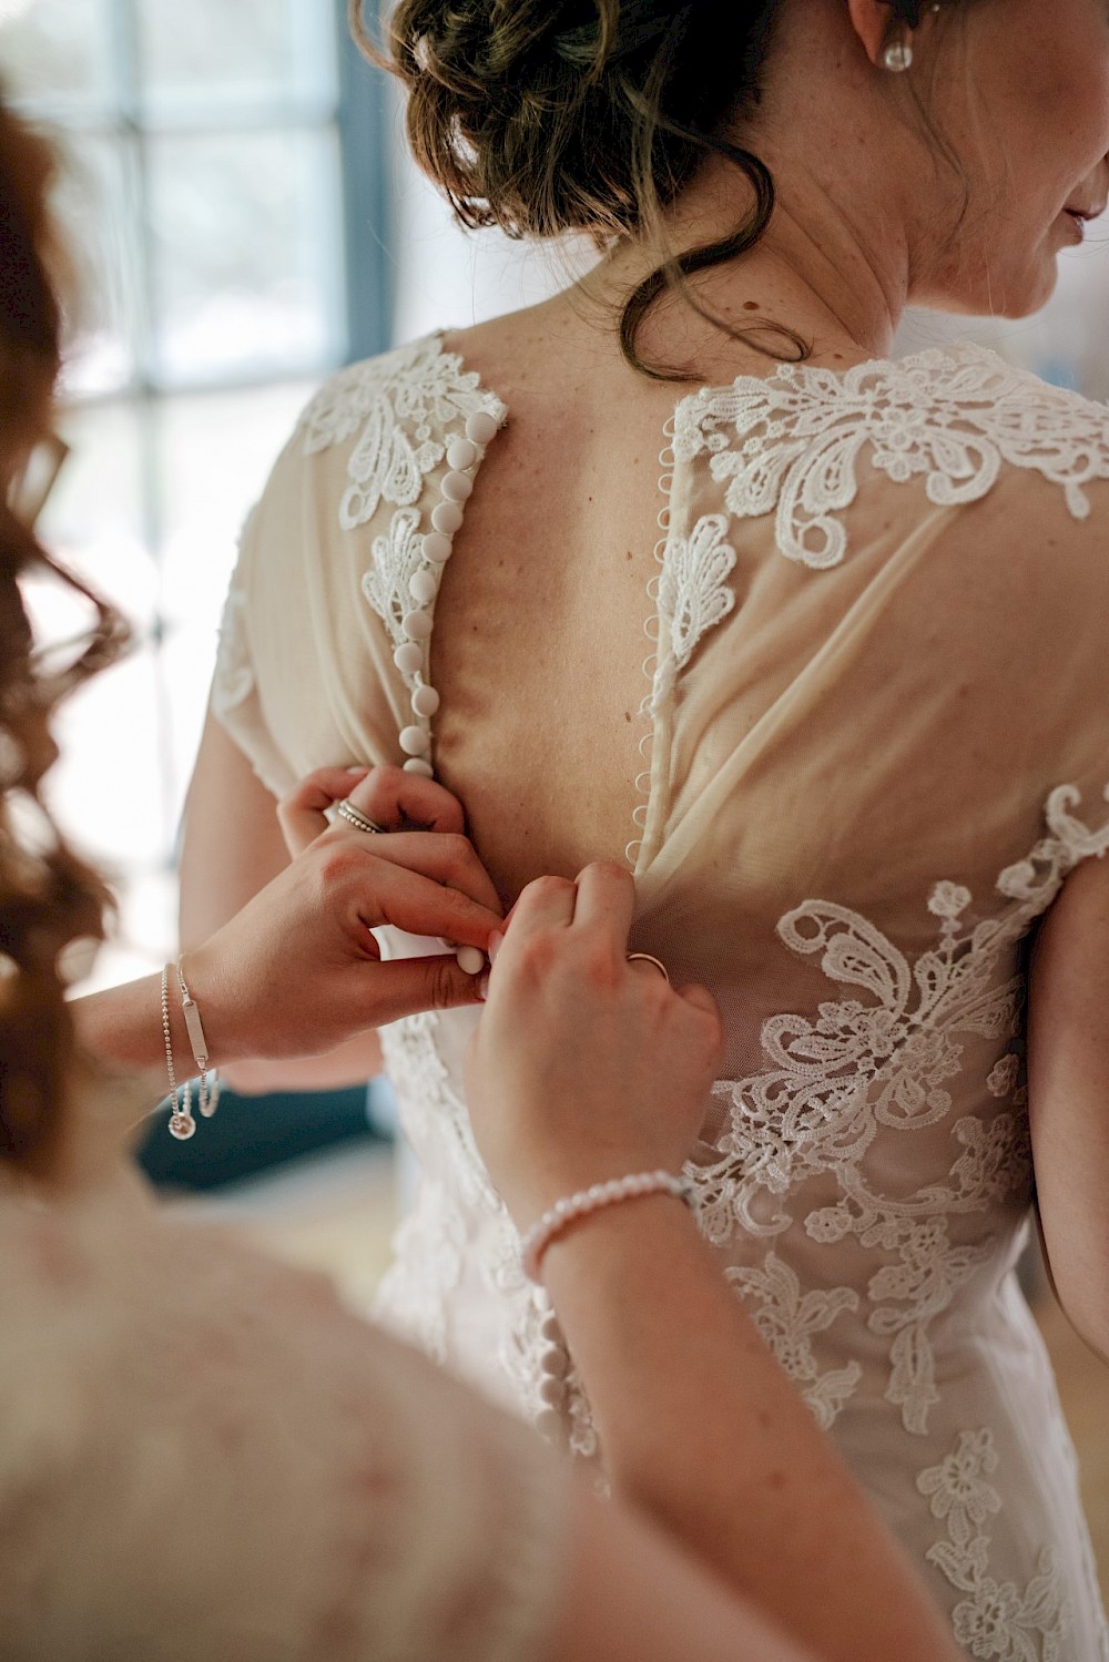
{"type": "MultiPolygon", "coordinates": [[[[115,879],[96,981],[176,937],[173,858],[238,527],[311,387],[387,344],[384,108],[341,0],[0,0],[58,138],[81,301],[47,543],[135,650],[63,715],[67,831],[115,879]]],[[[71,603],[33,595],[67,633],[71,603]]]]}

